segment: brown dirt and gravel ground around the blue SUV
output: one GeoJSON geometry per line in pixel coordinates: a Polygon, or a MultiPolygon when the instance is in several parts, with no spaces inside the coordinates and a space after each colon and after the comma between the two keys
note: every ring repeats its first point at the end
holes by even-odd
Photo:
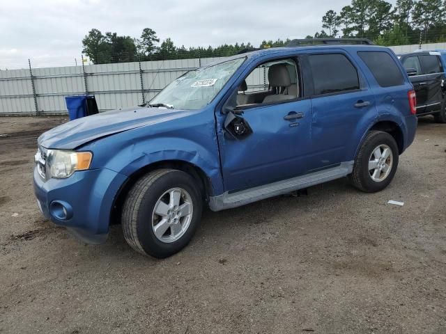
{"type": "Polygon", "coordinates": [[[65,120],[0,118],[0,333],[446,333],[446,125],[420,120],[380,193],[206,211],[155,260],[121,225],[89,246],[40,214],[36,138],[65,120]]]}

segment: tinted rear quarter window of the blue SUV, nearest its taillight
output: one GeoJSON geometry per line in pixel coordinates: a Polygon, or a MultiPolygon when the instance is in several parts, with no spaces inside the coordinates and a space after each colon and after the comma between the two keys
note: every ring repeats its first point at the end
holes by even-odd
{"type": "Polygon", "coordinates": [[[394,58],[383,51],[359,51],[358,56],[369,67],[381,87],[400,86],[404,77],[394,58]]]}

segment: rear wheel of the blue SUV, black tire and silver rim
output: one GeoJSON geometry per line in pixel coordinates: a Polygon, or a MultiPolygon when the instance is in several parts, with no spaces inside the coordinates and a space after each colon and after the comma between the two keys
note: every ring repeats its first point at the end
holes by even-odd
{"type": "Polygon", "coordinates": [[[366,193],[381,191],[392,182],[397,171],[398,159],[398,145],[395,139],[387,132],[371,131],[361,145],[349,179],[360,191],[366,193]],[[380,159],[376,149],[380,150],[380,159]],[[386,149],[390,152],[385,151],[386,149]],[[374,167],[371,170],[369,162],[370,166],[374,167]]]}

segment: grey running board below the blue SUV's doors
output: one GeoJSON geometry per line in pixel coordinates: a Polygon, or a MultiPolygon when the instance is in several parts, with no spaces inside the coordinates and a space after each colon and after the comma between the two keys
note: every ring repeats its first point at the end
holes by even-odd
{"type": "Polygon", "coordinates": [[[219,196],[209,198],[209,207],[213,211],[240,207],[248,203],[264,200],[284,193],[289,193],[298,189],[321,184],[331,180],[339,179],[350,174],[353,170],[353,161],[343,162],[339,166],[318,170],[317,172],[293,177],[288,180],[278,181],[264,186],[256,186],[251,189],[229,193],[226,191],[219,196]]]}

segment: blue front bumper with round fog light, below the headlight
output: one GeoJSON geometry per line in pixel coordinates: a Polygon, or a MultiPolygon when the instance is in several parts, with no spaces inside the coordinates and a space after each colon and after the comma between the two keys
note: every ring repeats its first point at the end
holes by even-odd
{"type": "Polygon", "coordinates": [[[126,179],[107,168],[77,171],[66,179],[47,181],[37,168],[33,173],[34,193],[45,217],[93,244],[107,239],[114,198],[126,179]],[[65,214],[66,218],[61,218],[65,214]]]}

